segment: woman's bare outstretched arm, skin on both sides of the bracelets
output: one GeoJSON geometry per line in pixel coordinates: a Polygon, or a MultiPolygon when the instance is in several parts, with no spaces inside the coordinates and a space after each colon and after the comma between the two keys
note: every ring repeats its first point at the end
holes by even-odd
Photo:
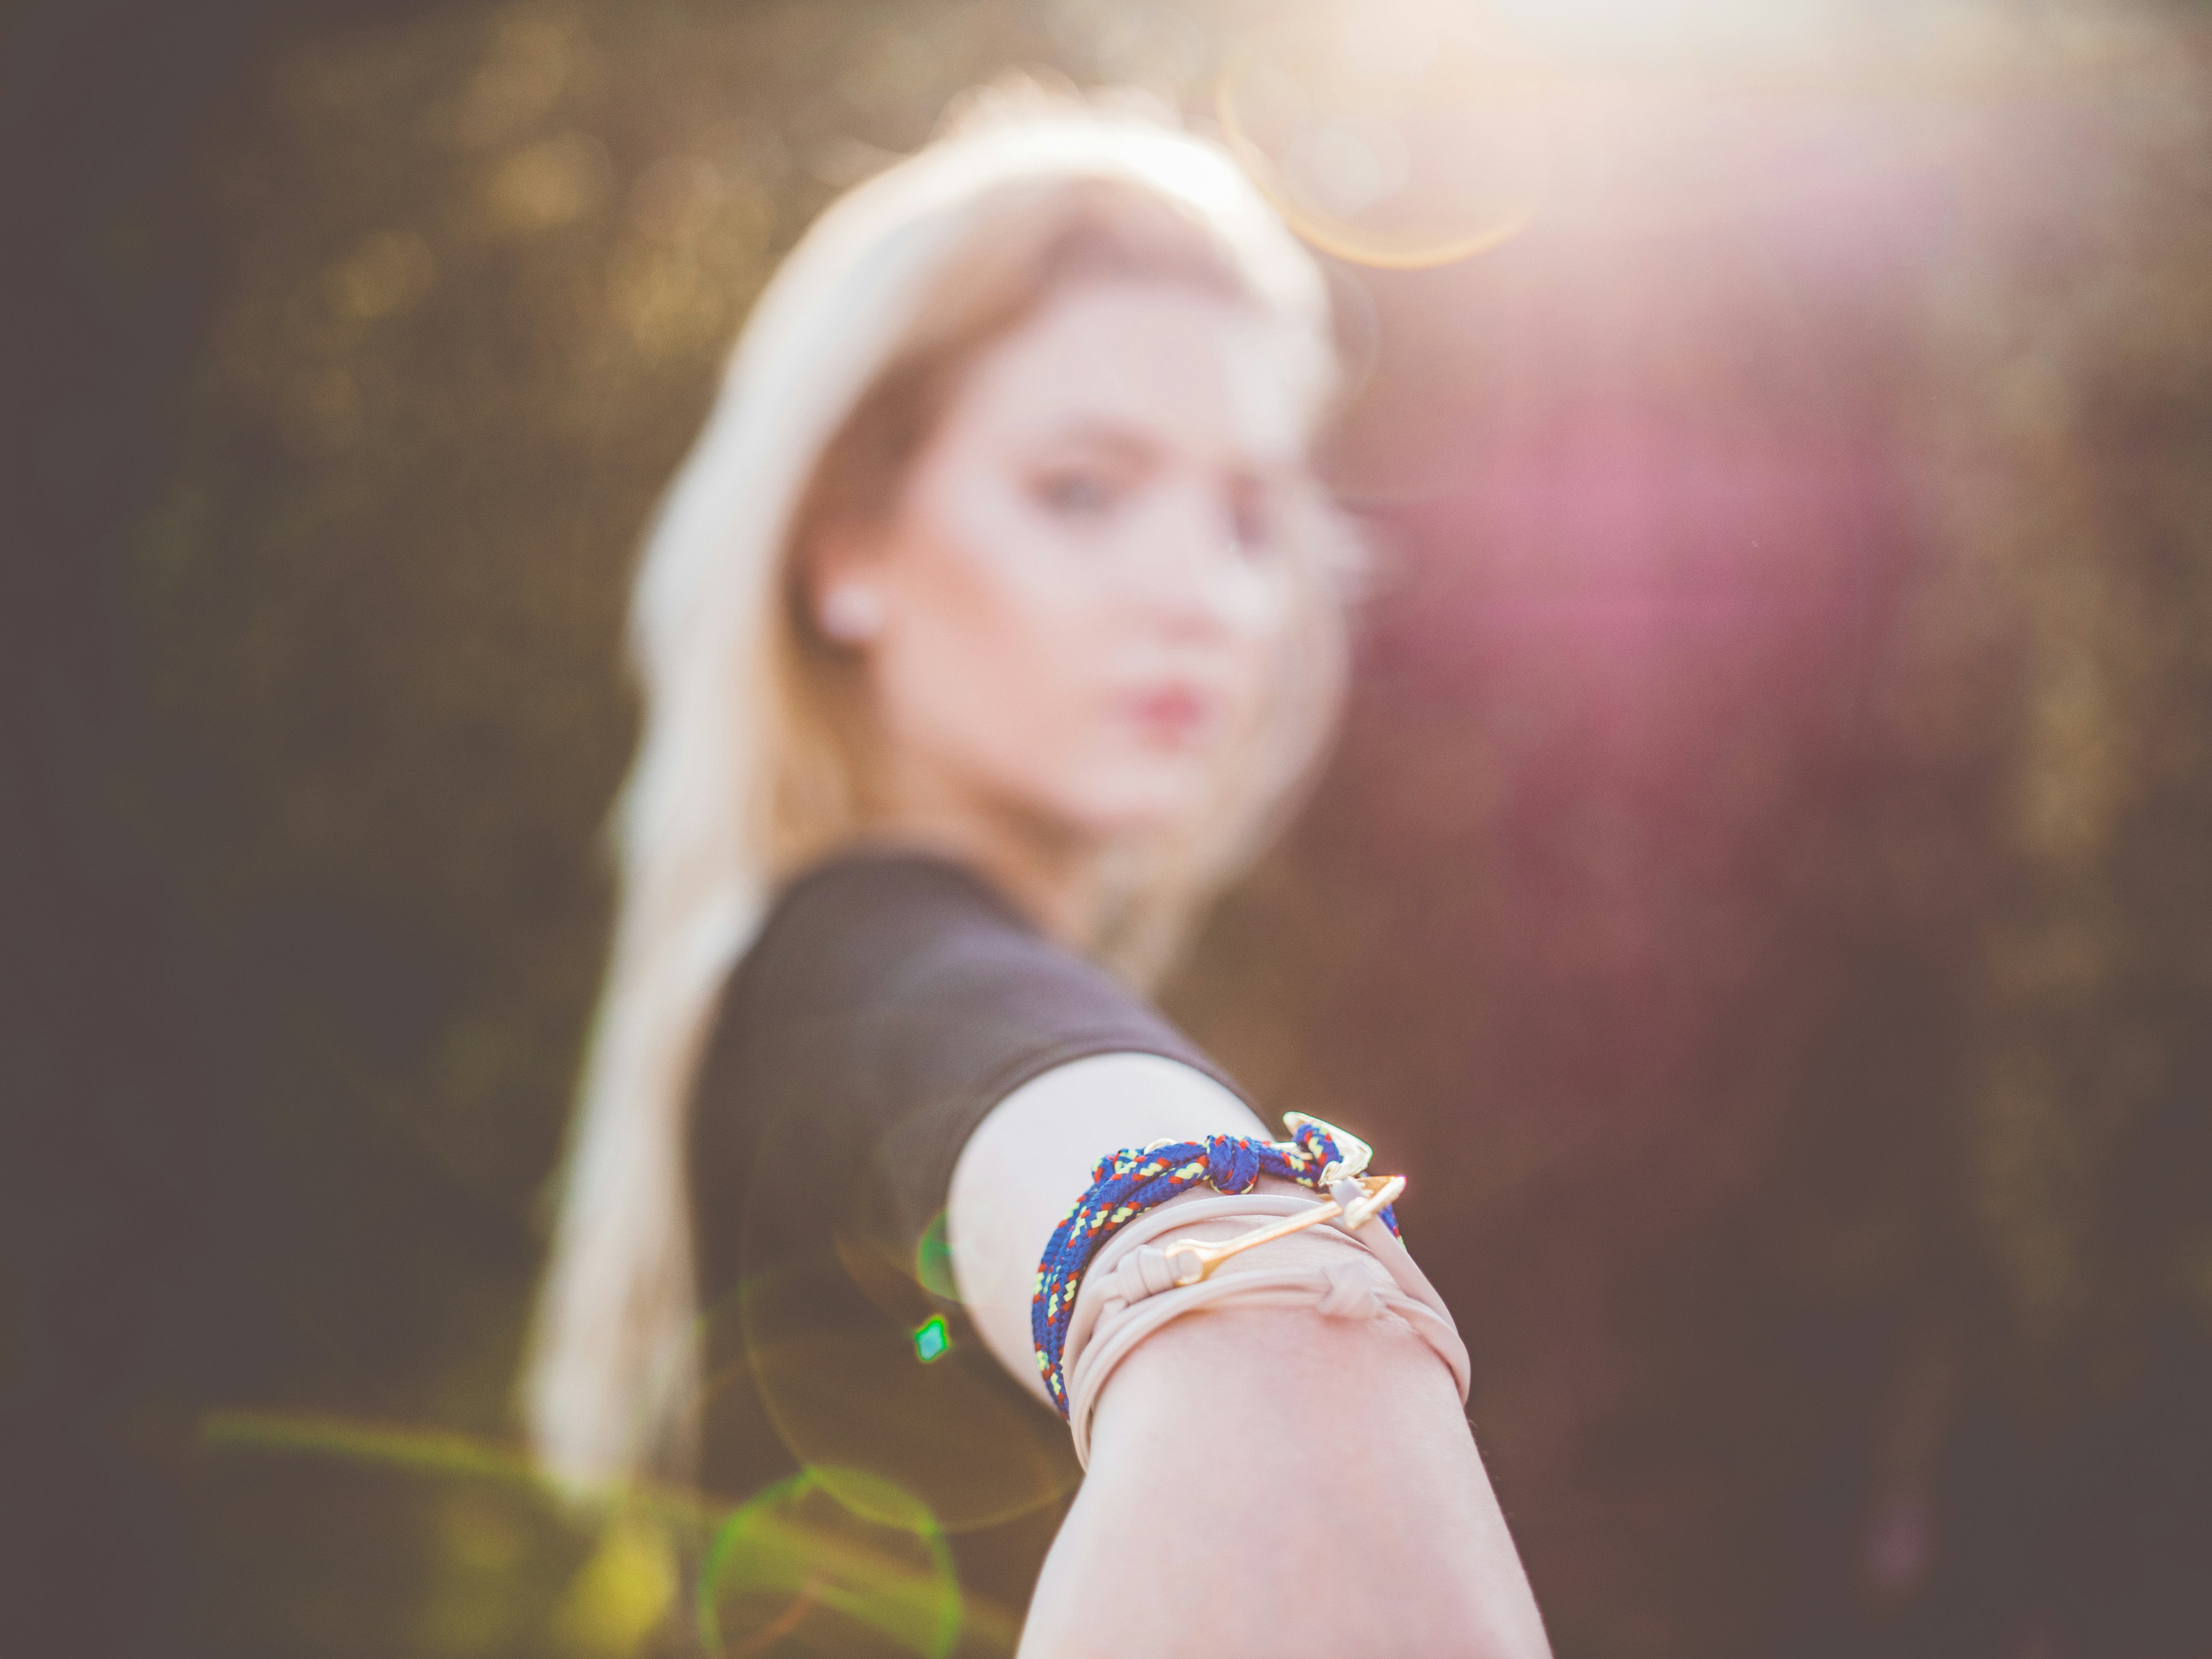
{"type": "MultiPolygon", "coordinates": [[[[1053,1225],[1102,1155],[1203,1135],[1267,1130],[1203,1073],[1099,1055],[1022,1086],[969,1139],[949,1214],[960,1290],[1040,1398],[1029,1298],[1053,1225]]],[[[1263,1248],[1294,1265],[1329,1243],[1263,1248]]],[[[1022,1655],[1130,1652],[1548,1652],[1451,1374],[1409,1325],[1228,1305],[1124,1360],[1022,1655]]]]}

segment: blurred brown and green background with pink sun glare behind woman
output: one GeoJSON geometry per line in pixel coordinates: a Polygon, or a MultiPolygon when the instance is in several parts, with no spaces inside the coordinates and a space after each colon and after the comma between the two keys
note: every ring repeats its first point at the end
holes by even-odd
{"type": "Polygon", "coordinates": [[[637,533],[960,88],[1272,51],[1376,557],[1170,1009],[1411,1170],[1562,1659],[2212,1652],[2212,13],[1464,0],[1396,135],[1336,15],[0,9],[0,1646],[695,1648],[511,1396],[637,533]]]}

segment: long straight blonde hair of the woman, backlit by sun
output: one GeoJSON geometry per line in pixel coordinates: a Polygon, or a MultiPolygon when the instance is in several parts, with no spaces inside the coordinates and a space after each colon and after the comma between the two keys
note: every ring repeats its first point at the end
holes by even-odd
{"type": "MultiPolygon", "coordinates": [[[[807,531],[880,498],[958,367],[1093,272],[1232,288],[1310,358],[1318,418],[1325,283],[1230,157],[1031,95],[987,104],[821,215],[754,305],[653,522],[630,619],[644,734],[615,814],[622,907],[524,1371],[540,1458],[568,1482],[688,1455],[699,1053],[774,883],[869,821],[849,664],[801,602],[807,531]]],[[[1265,843],[1334,721],[1349,538],[1318,491],[1292,520],[1303,602],[1267,717],[1206,823],[1117,872],[1097,953],[1139,984],[1265,843]]]]}

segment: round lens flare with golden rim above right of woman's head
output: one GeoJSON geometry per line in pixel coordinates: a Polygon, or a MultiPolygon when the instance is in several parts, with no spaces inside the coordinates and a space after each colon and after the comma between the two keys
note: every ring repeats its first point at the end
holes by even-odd
{"type": "Polygon", "coordinates": [[[1511,38],[1371,9],[1259,27],[1230,51],[1230,146],[1314,246],[1418,268],[1493,248],[1551,175],[1551,77],[1511,38]]]}

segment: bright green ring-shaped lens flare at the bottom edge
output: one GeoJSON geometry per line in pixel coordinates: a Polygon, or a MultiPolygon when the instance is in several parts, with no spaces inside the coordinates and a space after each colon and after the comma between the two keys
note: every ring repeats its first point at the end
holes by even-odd
{"type": "Polygon", "coordinates": [[[730,1511],[699,1571],[699,1639],[723,1659],[785,1639],[854,1659],[942,1659],[960,1624],[936,1517],[860,1469],[803,1469],[730,1511]]]}

